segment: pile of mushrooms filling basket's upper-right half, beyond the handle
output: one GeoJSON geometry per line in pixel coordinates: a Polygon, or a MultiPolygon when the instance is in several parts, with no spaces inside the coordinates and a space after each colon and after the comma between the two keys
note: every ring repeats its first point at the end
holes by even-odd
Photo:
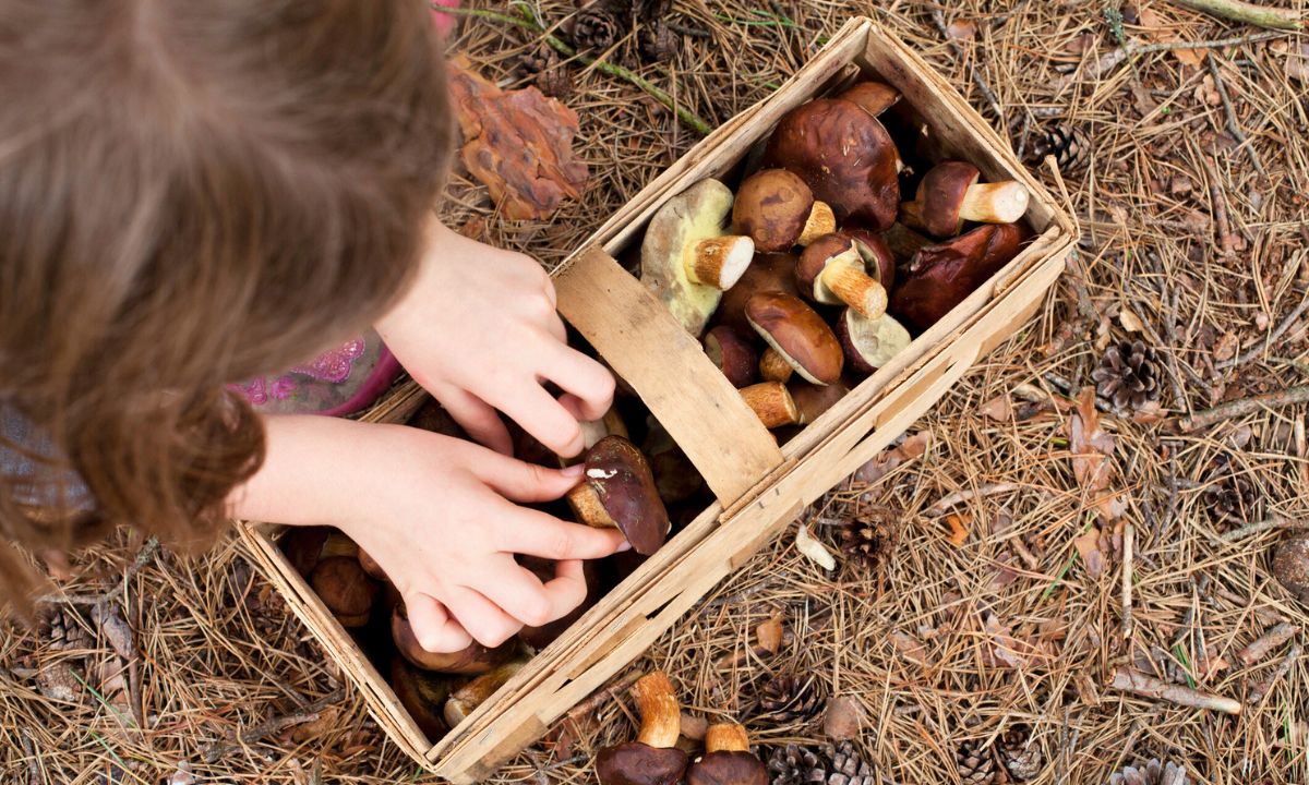
{"type": "Polygon", "coordinates": [[[661,207],[640,277],[763,424],[791,436],[1031,237],[1022,183],[982,183],[941,157],[888,85],[810,101],[781,118],[736,194],[709,178],[661,207]]]}

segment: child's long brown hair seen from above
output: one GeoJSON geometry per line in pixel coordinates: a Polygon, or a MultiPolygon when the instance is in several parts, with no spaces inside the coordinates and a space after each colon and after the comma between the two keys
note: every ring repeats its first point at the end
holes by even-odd
{"type": "Polygon", "coordinates": [[[225,385],[363,330],[419,258],[452,135],[427,3],[5,3],[0,94],[0,417],[29,432],[0,451],[31,468],[0,535],[206,539],[263,458],[225,385]]]}

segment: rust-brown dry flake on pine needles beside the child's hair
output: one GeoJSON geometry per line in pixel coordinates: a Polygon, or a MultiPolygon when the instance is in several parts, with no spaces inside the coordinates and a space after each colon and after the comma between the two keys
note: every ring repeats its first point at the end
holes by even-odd
{"type": "Polygon", "coordinates": [[[463,131],[463,165],[507,218],[545,218],[564,196],[581,198],[588,170],[572,152],[577,113],[537,88],[501,90],[465,58],[450,64],[450,94],[463,131]]]}

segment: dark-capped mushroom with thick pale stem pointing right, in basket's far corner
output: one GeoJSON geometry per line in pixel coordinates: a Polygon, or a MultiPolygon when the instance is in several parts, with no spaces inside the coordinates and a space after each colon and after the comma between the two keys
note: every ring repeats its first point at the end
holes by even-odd
{"type": "Polygon", "coordinates": [[[901,205],[901,220],[936,237],[954,237],[963,221],[1012,224],[1028,212],[1028,188],[1017,181],[979,183],[982,173],[963,161],[937,164],[918,184],[914,201],[901,205]]]}

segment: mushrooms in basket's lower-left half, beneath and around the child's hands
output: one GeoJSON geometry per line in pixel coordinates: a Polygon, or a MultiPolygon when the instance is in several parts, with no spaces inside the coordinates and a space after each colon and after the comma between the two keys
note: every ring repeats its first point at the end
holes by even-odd
{"type": "MultiPolygon", "coordinates": [[[[639,413],[635,399],[623,406],[639,413]]],[[[466,434],[435,402],[410,421],[445,436],[466,434]]],[[[389,682],[419,729],[436,741],[462,722],[539,650],[558,638],[603,593],[658,551],[673,521],[665,497],[683,517],[703,508],[700,478],[672,437],[657,423],[645,424],[639,449],[630,438],[619,407],[602,420],[584,425],[584,479],[551,509],[560,517],[598,527],[618,527],[632,543],[630,552],[584,565],[586,601],[567,616],[542,627],[525,627],[493,649],[474,642],[462,652],[437,654],[419,644],[404,603],[381,567],[350,538],[330,527],[295,527],[280,546],[291,565],[306,580],[332,616],[353,636],[389,682]]],[[[535,440],[516,430],[516,454],[543,466],[565,463],[535,440]]],[[[548,505],[546,505],[547,509],[548,505]]],[[[554,577],[554,563],[518,556],[542,581],[554,577]]],[[[675,734],[674,734],[675,735],[675,734]]]]}

